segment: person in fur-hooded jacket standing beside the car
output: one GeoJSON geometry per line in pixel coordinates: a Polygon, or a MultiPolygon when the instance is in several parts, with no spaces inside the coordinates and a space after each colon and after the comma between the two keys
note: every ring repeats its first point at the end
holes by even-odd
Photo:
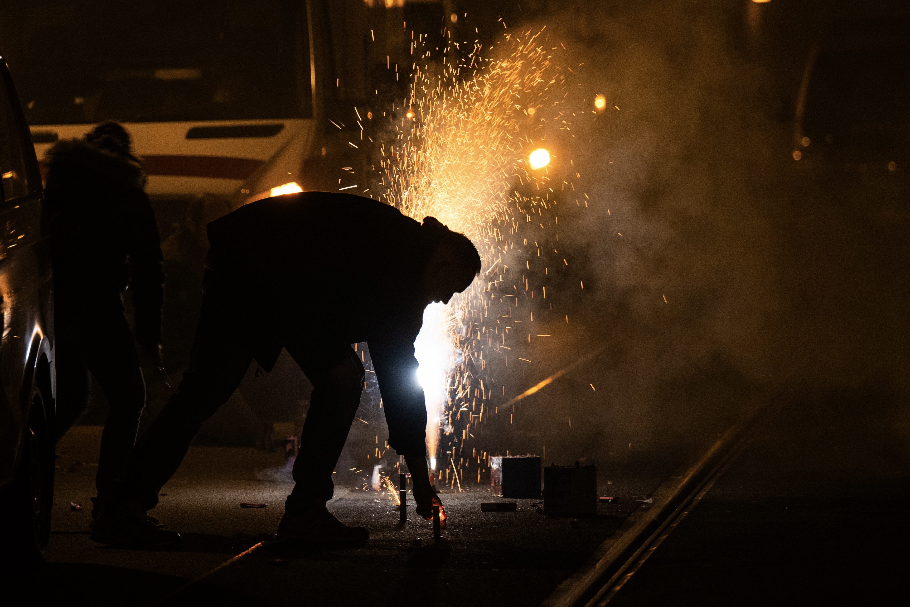
{"type": "MultiPolygon", "coordinates": [[[[55,288],[56,440],[86,409],[90,372],[109,403],[96,476],[102,495],[136,442],[146,404],[140,358],[163,369],[158,228],[142,163],[116,122],[96,126],[85,139],[60,141],[48,150],[45,164],[55,288]],[[124,313],[126,290],[135,309],[133,329],[124,313]]],[[[104,505],[93,502],[96,518],[104,505]]]]}

